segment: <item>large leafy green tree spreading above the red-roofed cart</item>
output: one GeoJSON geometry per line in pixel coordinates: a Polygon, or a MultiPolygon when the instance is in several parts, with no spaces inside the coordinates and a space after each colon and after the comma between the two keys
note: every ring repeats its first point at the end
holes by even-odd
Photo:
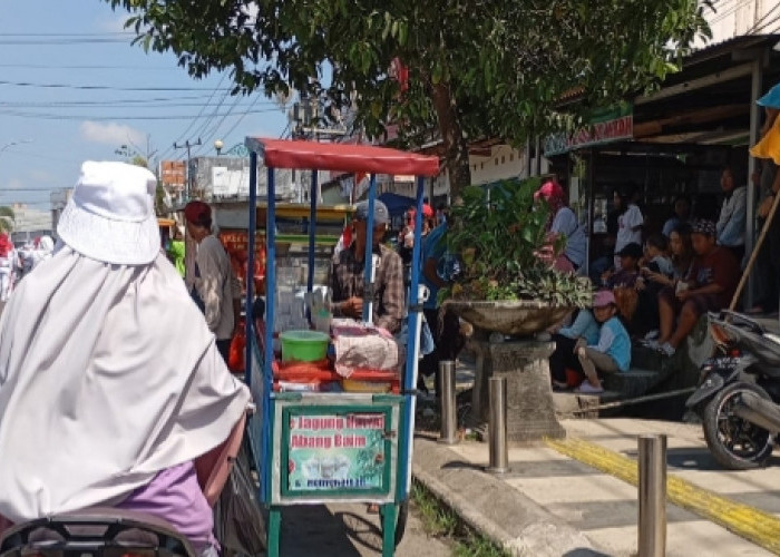
{"type": "Polygon", "coordinates": [[[470,182],[471,139],[520,145],[571,127],[653,87],[709,36],[696,0],[106,1],[131,12],[136,41],[172,50],[191,76],[230,70],[234,94],[357,99],[369,137],[394,124],[419,145],[437,131],[456,194],[470,182]],[[399,60],[408,80],[391,70],[399,60]],[[562,113],[575,88],[583,102],[562,113]]]}

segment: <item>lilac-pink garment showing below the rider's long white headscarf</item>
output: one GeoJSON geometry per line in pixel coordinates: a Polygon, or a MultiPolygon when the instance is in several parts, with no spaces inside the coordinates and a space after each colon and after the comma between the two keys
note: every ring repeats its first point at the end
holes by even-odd
{"type": "Polygon", "coordinates": [[[156,516],[186,536],[198,553],[216,547],[214,516],[197,482],[192,462],[163,470],[116,506],[156,516]]]}

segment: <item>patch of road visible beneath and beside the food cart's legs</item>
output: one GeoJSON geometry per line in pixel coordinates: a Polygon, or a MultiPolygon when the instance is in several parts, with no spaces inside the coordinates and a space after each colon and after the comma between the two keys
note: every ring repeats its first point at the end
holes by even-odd
{"type": "MultiPolygon", "coordinates": [[[[379,516],[367,512],[365,505],[293,507],[282,514],[284,557],[376,557],[381,555],[379,516]]],[[[449,557],[450,547],[429,537],[416,512],[409,514],[406,535],[398,557],[449,557]]]]}

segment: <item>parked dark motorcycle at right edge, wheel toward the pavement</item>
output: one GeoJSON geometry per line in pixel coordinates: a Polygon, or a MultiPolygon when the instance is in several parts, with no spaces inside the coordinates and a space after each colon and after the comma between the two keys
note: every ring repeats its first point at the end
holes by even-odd
{"type": "Polygon", "coordinates": [[[780,432],[780,335],[740,313],[710,313],[716,354],[685,405],[714,459],[731,470],[766,465],[780,432]]]}

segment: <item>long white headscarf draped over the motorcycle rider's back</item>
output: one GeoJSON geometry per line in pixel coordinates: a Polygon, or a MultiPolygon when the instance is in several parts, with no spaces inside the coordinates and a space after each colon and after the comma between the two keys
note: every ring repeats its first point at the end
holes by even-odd
{"type": "Polygon", "coordinates": [[[164,255],[116,265],[65,245],[0,320],[0,515],[117,502],[223,442],[248,398],[164,255]]]}

